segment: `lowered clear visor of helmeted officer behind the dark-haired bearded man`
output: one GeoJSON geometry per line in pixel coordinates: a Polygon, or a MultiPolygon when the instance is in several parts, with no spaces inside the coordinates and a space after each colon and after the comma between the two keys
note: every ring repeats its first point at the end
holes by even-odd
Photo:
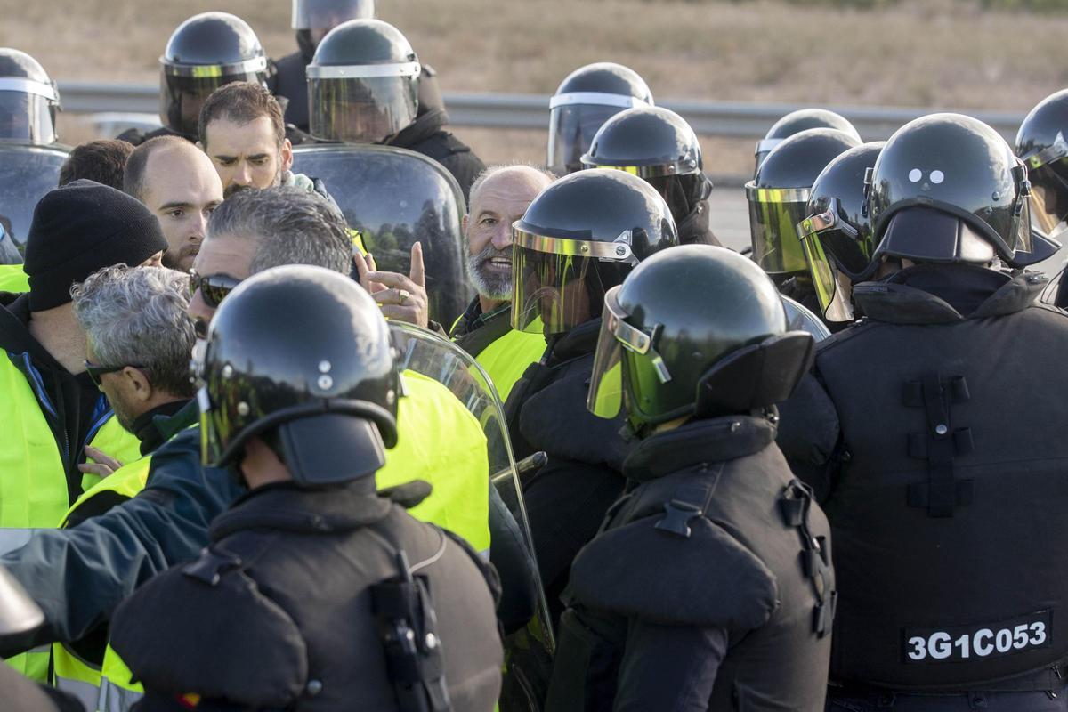
{"type": "Polygon", "coordinates": [[[419,107],[419,64],[410,64],[417,67],[414,75],[347,78],[326,70],[349,67],[308,67],[312,136],[326,141],[378,143],[411,124],[419,107]]]}

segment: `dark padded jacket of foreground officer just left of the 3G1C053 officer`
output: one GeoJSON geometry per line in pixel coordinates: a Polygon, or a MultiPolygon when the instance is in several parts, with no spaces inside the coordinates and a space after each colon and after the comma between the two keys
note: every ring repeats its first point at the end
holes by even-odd
{"type": "Polygon", "coordinates": [[[829,527],[774,437],[725,416],[631,452],[571,569],[549,712],[823,709],[829,527]]]}

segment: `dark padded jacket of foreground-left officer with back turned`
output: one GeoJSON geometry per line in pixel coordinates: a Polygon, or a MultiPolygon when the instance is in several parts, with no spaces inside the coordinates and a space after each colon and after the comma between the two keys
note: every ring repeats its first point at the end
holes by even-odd
{"type": "Polygon", "coordinates": [[[415,639],[421,650],[431,632],[440,640],[430,649],[443,659],[452,709],[493,709],[503,654],[491,569],[378,496],[373,477],[258,488],[210,537],[197,560],[116,613],[112,645],[148,693],[139,709],[170,709],[185,693],[250,710],[399,709],[383,654],[393,629],[380,628],[394,616],[381,613],[376,588],[402,575],[400,551],[429,591],[436,618],[421,611],[415,639]]]}

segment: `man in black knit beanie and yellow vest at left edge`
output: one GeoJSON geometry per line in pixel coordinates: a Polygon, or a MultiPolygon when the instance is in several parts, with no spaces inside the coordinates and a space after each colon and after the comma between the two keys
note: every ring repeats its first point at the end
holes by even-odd
{"type": "MultiPolygon", "coordinates": [[[[120,461],[139,457],[85,373],[85,334],[70,286],[116,264],[131,266],[166,249],[155,217],[122,192],[76,180],[47,193],[34,209],[26,251],[30,291],[0,297],[0,552],[34,529],[54,527],[99,481],[87,448],[120,461]]],[[[17,666],[44,679],[48,652],[17,666]]]]}

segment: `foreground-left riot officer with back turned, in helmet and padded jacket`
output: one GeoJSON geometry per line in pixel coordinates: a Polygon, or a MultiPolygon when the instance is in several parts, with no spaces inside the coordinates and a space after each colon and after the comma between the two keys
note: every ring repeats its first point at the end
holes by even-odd
{"type": "Polygon", "coordinates": [[[116,612],[142,709],[186,693],[255,709],[493,709],[491,569],[397,504],[425,484],[376,492],[396,443],[393,354],[374,300],[320,267],[267,270],[220,305],[193,366],[203,459],[250,492],[198,560],[116,612]]]}

